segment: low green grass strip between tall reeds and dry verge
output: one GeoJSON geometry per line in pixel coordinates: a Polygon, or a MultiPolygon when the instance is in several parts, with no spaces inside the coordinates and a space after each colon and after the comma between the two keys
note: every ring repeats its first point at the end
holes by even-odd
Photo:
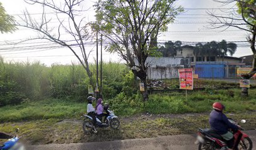
{"type": "MultiPolygon", "coordinates": [[[[131,98],[123,93],[114,99],[104,100],[110,104],[110,109],[119,116],[131,116],[135,114],[183,114],[203,113],[211,110],[211,104],[221,101],[227,111],[242,113],[256,110],[256,89],[250,89],[250,96],[242,98],[240,89],[230,90],[206,90],[184,93],[152,94],[149,101],[143,103],[136,94],[131,98]]],[[[94,104],[95,105],[95,104],[94,104]]],[[[85,113],[87,107],[84,103],[77,103],[70,99],[45,99],[43,101],[29,101],[17,106],[4,106],[0,108],[0,122],[31,121],[38,119],[70,119],[79,118],[85,113]]]]}

